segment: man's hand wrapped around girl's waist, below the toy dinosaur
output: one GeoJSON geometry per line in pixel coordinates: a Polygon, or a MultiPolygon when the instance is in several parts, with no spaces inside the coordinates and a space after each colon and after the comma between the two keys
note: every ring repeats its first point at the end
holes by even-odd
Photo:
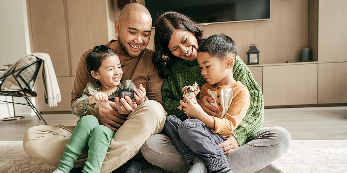
{"type": "Polygon", "coordinates": [[[113,131],[117,131],[125,122],[127,115],[119,114],[113,107],[116,107],[115,102],[101,103],[99,108],[99,123],[113,131]]]}

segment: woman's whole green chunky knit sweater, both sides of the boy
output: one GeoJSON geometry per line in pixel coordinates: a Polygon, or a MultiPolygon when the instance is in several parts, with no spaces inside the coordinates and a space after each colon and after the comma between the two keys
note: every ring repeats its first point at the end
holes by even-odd
{"type": "MultiPolygon", "coordinates": [[[[240,81],[248,88],[249,95],[251,96],[251,103],[249,104],[246,116],[232,133],[239,146],[242,146],[252,140],[263,125],[263,94],[260,86],[253,79],[251,71],[249,71],[239,56],[236,57],[233,75],[236,81],[240,81]]],[[[206,80],[201,75],[196,59],[194,61],[179,60],[169,69],[168,76],[164,80],[161,89],[163,107],[168,112],[168,115],[175,115],[182,121],[187,119],[184,111],[179,110],[177,107],[180,106],[179,101],[183,99],[182,88],[186,85],[192,85],[194,82],[200,88],[206,83],[206,80]]],[[[196,95],[196,98],[199,98],[199,94],[196,95]]]]}

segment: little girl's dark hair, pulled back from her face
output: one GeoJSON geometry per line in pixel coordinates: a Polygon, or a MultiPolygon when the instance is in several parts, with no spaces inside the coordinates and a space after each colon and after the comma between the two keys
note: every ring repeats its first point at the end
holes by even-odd
{"type": "MultiPolygon", "coordinates": [[[[105,45],[95,46],[93,51],[90,52],[86,58],[86,65],[87,65],[88,73],[91,74],[92,71],[98,72],[102,62],[106,58],[108,58],[109,56],[112,56],[112,55],[118,56],[118,54],[115,51],[113,51],[113,49],[111,49],[105,45]]],[[[96,82],[96,84],[99,84],[99,85],[101,84],[99,82],[99,80],[97,80],[97,79],[95,79],[95,82],[96,82]]]]}

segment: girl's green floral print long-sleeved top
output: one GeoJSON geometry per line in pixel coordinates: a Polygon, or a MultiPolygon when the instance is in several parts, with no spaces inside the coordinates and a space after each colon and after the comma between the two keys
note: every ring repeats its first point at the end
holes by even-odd
{"type": "MultiPolygon", "coordinates": [[[[132,89],[137,89],[133,81],[131,80],[126,80],[126,81],[121,81],[118,85],[118,87],[121,86],[129,86],[132,89]]],[[[86,88],[83,90],[82,96],[75,101],[75,103],[72,106],[71,112],[74,115],[84,115],[87,110],[92,110],[95,107],[95,104],[88,105],[88,100],[92,95],[95,93],[98,93],[101,91],[101,86],[95,84],[95,83],[87,83],[86,88]]],[[[110,95],[110,94],[109,94],[110,95]]],[[[148,100],[147,97],[145,96],[145,100],[148,100]]],[[[110,99],[110,101],[115,101],[115,99],[110,99]]]]}

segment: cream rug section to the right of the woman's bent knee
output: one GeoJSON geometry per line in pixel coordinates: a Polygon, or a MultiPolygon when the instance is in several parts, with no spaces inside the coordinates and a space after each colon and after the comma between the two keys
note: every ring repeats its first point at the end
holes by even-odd
{"type": "Polygon", "coordinates": [[[347,173],[347,140],[293,140],[273,163],[288,173],[347,173]]]}

